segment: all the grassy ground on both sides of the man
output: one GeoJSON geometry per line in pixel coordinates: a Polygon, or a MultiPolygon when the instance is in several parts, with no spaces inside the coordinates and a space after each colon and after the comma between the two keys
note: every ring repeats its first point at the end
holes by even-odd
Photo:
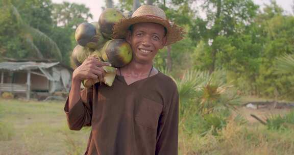
{"type": "MultiPolygon", "coordinates": [[[[0,98],[0,154],[82,154],[90,128],[68,130],[63,106],[62,101],[0,98]]],[[[269,131],[258,122],[239,125],[229,120],[218,136],[187,135],[184,130],[180,127],[183,155],[294,154],[294,128],[269,131]]]]}

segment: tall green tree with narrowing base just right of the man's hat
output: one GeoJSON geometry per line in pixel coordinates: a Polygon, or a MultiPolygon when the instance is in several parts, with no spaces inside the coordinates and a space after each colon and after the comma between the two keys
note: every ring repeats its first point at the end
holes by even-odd
{"type": "Polygon", "coordinates": [[[218,53],[222,52],[219,45],[224,45],[222,41],[236,33],[242,33],[252,23],[258,6],[251,0],[207,0],[201,8],[205,11],[206,18],[194,19],[189,35],[195,42],[203,40],[209,46],[205,55],[211,60],[206,66],[212,72],[218,66],[218,53]]]}

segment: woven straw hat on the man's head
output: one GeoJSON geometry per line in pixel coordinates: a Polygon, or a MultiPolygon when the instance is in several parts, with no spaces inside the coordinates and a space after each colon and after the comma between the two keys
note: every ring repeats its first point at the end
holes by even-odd
{"type": "Polygon", "coordinates": [[[183,28],[176,25],[174,22],[166,19],[162,9],[156,6],[142,5],[139,7],[130,18],[123,18],[116,22],[113,27],[113,37],[126,38],[130,25],[140,22],[154,22],[163,25],[166,32],[166,45],[175,43],[183,39],[183,28]]]}

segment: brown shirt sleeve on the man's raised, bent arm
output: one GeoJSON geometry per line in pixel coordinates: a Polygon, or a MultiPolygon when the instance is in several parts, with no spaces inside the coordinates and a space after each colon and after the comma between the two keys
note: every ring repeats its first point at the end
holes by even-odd
{"type": "Polygon", "coordinates": [[[67,124],[70,130],[81,130],[83,126],[90,126],[92,119],[93,87],[81,91],[81,99],[68,110],[68,97],[64,106],[67,124]]]}

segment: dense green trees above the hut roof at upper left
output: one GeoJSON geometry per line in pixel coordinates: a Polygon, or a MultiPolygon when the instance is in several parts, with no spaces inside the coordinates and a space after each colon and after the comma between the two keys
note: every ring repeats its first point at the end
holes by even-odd
{"type": "Polygon", "coordinates": [[[46,22],[51,21],[50,14],[48,21],[46,20],[50,3],[50,1],[2,1],[1,14],[4,18],[1,18],[0,22],[4,25],[4,29],[0,31],[0,39],[4,57],[62,59],[57,44],[42,32],[50,31],[46,25],[46,22]]]}

